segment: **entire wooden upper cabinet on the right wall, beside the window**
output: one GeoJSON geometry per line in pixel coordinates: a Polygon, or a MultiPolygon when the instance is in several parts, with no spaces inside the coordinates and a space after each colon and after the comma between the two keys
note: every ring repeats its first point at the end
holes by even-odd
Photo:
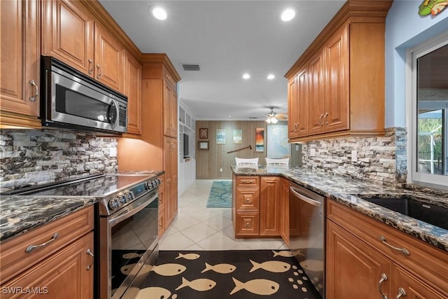
{"type": "Polygon", "coordinates": [[[288,71],[290,142],[384,134],[384,22],[391,4],[347,1],[288,71]]]}

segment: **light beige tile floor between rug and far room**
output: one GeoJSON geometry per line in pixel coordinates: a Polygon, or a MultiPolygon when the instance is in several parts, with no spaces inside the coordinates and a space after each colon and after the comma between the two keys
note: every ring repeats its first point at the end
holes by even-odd
{"type": "Polygon", "coordinates": [[[179,212],[160,239],[160,250],[287,249],[281,238],[235,239],[232,209],[206,207],[213,181],[196,180],[179,197],[179,212]]]}

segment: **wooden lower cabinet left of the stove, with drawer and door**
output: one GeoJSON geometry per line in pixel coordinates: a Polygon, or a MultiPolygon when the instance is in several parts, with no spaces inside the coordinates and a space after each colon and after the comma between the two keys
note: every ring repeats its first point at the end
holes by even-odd
{"type": "Polygon", "coordinates": [[[2,242],[1,298],[93,298],[92,230],[90,206],[2,242]]]}

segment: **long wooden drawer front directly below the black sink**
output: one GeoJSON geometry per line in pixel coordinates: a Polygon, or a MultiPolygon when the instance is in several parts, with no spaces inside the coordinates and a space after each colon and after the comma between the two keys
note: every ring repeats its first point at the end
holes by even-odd
{"type": "Polygon", "coordinates": [[[343,204],[327,200],[327,216],[363,242],[391,258],[423,281],[448,294],[448,253],[404,232],[354,211],[343,204]],[[384,237],[384,241],[381,240],[384,237]],[[390,245],[390,246],[389,246],[390,245]],[[406,249],[409,255],[397,249],[406,249]]]}

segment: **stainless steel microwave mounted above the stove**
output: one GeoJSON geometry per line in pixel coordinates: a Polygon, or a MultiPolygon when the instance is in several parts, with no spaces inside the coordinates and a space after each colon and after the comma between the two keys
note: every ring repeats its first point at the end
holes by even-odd
{"type": "Polygon", "coordinates": [[[44,126],[127,132],[127,97],[54,57],[41,57],[41,90],[44,126]]]}

